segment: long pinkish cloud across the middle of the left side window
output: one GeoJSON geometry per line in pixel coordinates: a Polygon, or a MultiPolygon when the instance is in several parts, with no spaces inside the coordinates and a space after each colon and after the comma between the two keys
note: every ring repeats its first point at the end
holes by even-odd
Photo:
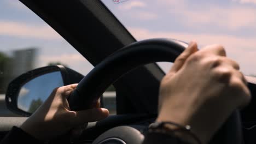
{"type": "Polygon", "coordinates": [[[9,35],[20,38],[34,38],[45,40],[63,39],[48,25],[32,26],[27,23],[14,21],[0,21],[0,35],[9,35]]]}

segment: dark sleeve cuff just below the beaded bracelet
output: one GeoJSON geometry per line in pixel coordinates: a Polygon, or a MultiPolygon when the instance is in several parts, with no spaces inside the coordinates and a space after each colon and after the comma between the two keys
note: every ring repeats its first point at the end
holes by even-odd
{"type": "Polygon", "coordinates": [[[184,141],[179,140],[177,137],[162,134],[162,133],[148,133],[145,135],[143,144],[190,144],[184,141]]]}

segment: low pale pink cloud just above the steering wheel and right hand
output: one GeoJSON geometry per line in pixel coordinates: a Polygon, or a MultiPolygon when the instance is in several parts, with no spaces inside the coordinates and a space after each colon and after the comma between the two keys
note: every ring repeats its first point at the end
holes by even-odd
{"type": "Polygon", "coordinates": [[[191,40],[196,40],[201,46],[214,43],[222,44],[226,49],[227,55],[230,58],[234,58],[240,64],[243,73],[256,73],[256,71],[254,70],[254,68],[256,67],[256,63],[252,63],[252,59],[255,59],[256,55],[256,37],[244,38],[227,34],[191,34],[178,32],[161,32],[131,27],[128,28],[128,30],[137,40],[150,38],[173,38],[187,42],[191,40]]]}

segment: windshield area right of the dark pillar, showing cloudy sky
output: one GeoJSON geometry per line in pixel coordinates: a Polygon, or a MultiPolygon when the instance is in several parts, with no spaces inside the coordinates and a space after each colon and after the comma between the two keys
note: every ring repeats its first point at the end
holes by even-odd
{"type": "MultiPolygon", "coordinates": [[[[222,44],[246,75],[256,75],[255,0],[102,0],[137,40],[196,40],[222,44]]],[[[170,65],[160,63],[167,71],[170,65]]]]}

